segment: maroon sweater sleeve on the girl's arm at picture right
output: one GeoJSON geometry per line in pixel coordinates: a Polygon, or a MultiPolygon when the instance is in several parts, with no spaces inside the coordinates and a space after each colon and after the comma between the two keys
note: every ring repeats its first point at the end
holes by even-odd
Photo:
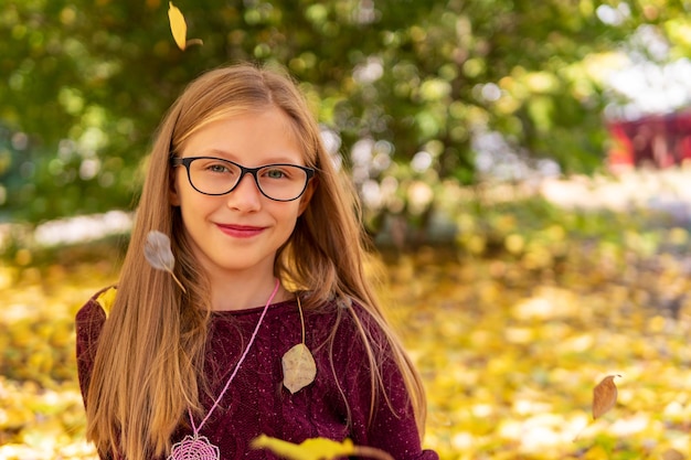
{"type": "Polygon", "coordinates": [[[354,321],[344,321],[336,338],[336,353],[341,354],[336,361],[343,364],[340,374],[351,413],[353,442],[384,450],[396,460],[437,460],[435,451],[422,448],[410,394],[384,332],[364,309],[357,304],[351,309],[371,338],[383,386],[372,405],[373,384],[364,342],[354,321]]]}

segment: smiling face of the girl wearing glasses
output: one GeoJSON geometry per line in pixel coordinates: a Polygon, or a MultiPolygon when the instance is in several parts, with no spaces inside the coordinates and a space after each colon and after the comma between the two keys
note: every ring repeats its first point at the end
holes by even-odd
{"type": "MultiPolygon", "coordinates": [[[[290,119],[279,109],[233,115],[194,132],[184,142],[180,158],[212,157],[245,168],[267,164],[305,165],[302,151],[290,119]]],[[[301,172],[276,168],[257,171],[268,194],[286,193],[273,180],[301,172]],[[262,179],[264,178],[264,179],[262,179]]],[[[295,201],[274,201],[258,189],[251,173],[232,186],[236,167],[216,160],[194,160],[174,170],[171,204],[180,206],[184,232],[194,256],[212,276],[253,274],[273,276],[277,249],[286,243],[300,213],[307,206],[311,186],[295,201]],[[191,171],[191,184],[188,170],[191,171]],[[223,183],[227,183],[224,189],[223,183]]],[[[301,181],[304,178],[299,178],[301,181]]],[[[307,181],[307,179],[304,179],[307,181]]]]}

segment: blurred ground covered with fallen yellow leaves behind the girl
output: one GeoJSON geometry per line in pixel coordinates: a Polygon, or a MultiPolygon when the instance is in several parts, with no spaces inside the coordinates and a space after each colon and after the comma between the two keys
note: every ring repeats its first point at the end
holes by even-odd
{"type": "MultiPolygon", "coordinates": [[[[465,215],[453,247],[383,252],[382,298],[428,392],[426,446],[443,460],[691,458],[687,228],[550,213],[465,215]],[[607,375],[617,403],[593,420],[607,375]]],[[[114,259],[0,268],[0,459],[94,458],[73,317],[114,259]]]]}

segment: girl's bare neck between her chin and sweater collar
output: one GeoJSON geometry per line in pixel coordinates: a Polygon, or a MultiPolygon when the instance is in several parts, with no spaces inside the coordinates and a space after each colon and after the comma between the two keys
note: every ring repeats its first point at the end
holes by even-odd
{"type": "MultiPolygon", "coordinates": [[[[264,307],[276,286],[273,276],[235,275],[232,277],[211,279],[211,309],[247,310],[255,307],[264,307]]],[[[273,299],[273,303],[289,300],[293,297],[283,285],[273,299]]]]}

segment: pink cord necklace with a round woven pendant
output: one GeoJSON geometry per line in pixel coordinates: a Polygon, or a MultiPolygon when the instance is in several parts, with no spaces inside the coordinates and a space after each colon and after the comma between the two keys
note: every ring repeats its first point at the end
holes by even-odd
{"type": "Polygon", "coordinates": [[[247,353],[249,353],[249,349],[252,347],[254,340],[257,338],[259,327],[262,325],[262,321],[264,321],[264,317],[266,315],[268,306],[272,303],[272,300],[274,300],[274,297],[276,297],[276,292],[278,292],[278,286],[279,282],[278,279],[276,279],[276,286],[274,287],[274,291],[266,301],[266,306],[264,306],[264,310],[262,311],[259,321],[257,321],[257,325],[254,328],[254,332],[252,333],[252,339],[249,339],[247,347],[240,357],[240,361],[235,365],[235,368],[233,370],[233,373],[228,377],[227,382],[225,383],[225,386],[221,391],[221,394],[213,403],[213,406],[211,407],[211,409],[209,409],[209,413],[206,413],[206,416],[202,419],[199,426],[194,425],[192,410],[188,409],[190,414],[190,421],[192,424],[193,435],[187,435],[181,441],[176,442],[172,447],[172,450],[170,451],[168,460],[220,460],[221,453],[219,451],[219,447],[212,445],[211,441],[209,441],[209,438],[206,438],[205,436],[200,436],[199,432],[201,431],[206,420],[209,420],[211,414],[216,409],[216,407],[219,407],[219,403],[221,403],[223,395],[225,395],[225,392],[227,392],[228,387],[231,386],[231,382],[233,382],[233,378],[235,378],[237,370],[240,370],[243,361],[245,361],[245,357],[247,357],[247,353]]]}

